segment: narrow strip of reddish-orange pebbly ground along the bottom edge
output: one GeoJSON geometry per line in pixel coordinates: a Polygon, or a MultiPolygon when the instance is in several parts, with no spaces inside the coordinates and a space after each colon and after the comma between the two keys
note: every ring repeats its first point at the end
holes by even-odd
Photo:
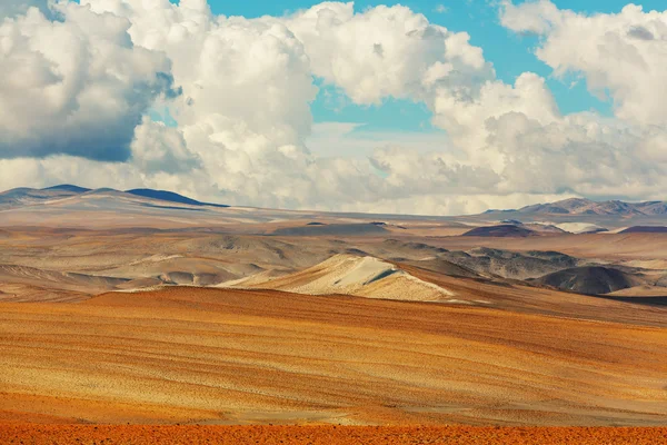
{"type": "Polygon", "coordinates": [[[0,425],[3,444],[665,444],[667,428],[0,425]]]}

